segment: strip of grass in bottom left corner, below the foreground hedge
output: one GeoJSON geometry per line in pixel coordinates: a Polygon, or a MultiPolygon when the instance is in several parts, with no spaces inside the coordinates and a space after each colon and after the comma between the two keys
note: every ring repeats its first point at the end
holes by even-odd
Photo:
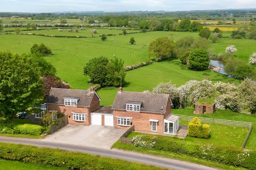
{"type": "Polygon", "coordinates": [[[31,170],[31,169],[37,169],[37,170],[66,170],[68,168],[55,167],[55,166],[50,166],[50,165],[21,163],[21,162],[18,162],[18,161],[0,159],[0,170],[31,170]]]}

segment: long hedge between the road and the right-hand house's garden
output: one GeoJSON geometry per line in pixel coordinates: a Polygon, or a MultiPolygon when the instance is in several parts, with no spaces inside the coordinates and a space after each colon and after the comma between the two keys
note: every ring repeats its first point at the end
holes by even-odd
{"type": "Polygon", "coordinates": [[[162,137],[155,138],[145,135],[147,142],[154,142],[152,149],[159,151],[174,152],[202,158],[221,164],[247,169],[256,169],[256,151],[246,150],[238,147],[217,146],[210,144],[188,143],[181,139],[162,137]]]}

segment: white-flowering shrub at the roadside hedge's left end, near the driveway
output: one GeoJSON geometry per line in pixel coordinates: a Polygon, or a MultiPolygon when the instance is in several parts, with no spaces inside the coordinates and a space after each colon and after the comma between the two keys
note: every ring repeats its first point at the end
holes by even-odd
{"type": "Polygon", "coordinates": [[[133,145],[135,147],[140,147],[140,148],[153,148],[155,146],[155,141],[154,141],[154,136],[150,137],[149,135],[135,135],[131,139],[133,142],[133,145]]]}

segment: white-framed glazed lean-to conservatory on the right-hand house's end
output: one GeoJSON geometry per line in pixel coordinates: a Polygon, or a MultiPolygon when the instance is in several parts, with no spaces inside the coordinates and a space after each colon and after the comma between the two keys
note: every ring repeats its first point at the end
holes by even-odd
{"type": "Polygon", "coordinates": [[[179,116],[169,114],[164,119],[164,133],[176,134],[179,129],[179,116]]]}

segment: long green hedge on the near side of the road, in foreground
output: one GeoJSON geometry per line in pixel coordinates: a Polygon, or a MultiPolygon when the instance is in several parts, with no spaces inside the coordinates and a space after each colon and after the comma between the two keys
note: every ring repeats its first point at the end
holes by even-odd
{"type": "Polygon", "coordinates": [[[103,158],[59,149],[0,143],[0,159],[19,160],[34,164],[67,167],[69,169],[161,169],[112,158],[103,158]]]}

